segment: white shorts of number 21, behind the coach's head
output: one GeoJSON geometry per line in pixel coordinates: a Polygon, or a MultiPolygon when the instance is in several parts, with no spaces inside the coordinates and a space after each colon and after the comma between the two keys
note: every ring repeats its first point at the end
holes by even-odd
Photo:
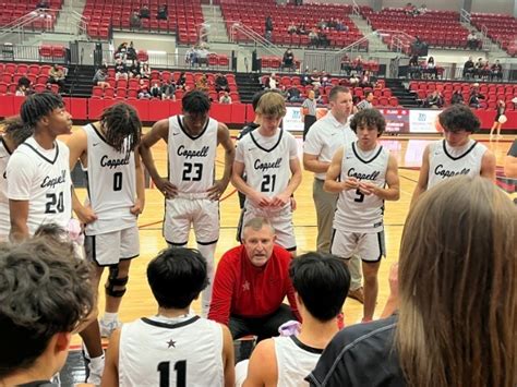
{"type": "Polygon", "coordinates": [[[290,252],[297,250],[297,240],[294,238],[292,210],[290,205],[275,211],[263,210],[255,207],[245,207],[243,209],[241,230],[239,232],[241,240],[244,237],[244,225],[248,223],[249,220],[256,217],[262,217],[269,220],[273,228],[275,229],[276,244],[290,252]]]}

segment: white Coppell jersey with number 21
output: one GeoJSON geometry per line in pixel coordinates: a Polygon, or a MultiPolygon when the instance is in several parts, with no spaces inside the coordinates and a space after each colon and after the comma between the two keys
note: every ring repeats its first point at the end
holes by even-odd
{"type": "MultiPolygon", "coordinates": [[[[257,131],[244,136],[238,147],[244,159],[247,183],[253,190],[273,197],[284,192],[291,178],[291,147],[296,138],[289,132],[278,130],[275,142],[268,146],[263,144],[263,137],[257,131]]],[[[253,204],[247,199],[247,207],[253,204]]],[[[290,206],[290,204],[287,204],[290,206]]]]}

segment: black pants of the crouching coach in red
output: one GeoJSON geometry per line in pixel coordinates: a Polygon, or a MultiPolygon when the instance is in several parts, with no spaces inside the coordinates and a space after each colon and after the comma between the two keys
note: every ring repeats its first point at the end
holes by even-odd
{"type": "Polygon", "coordinates": [[[297,319],[291,312],[289,305],[281,304],[278,310],[264,317],[242,317],[230,315],[228,328],[231,337],[237,340],[248,335],[257,336],[257,341],[267,339],[273,336],[278,336],[278,327],[284,323],[297,319]]]}

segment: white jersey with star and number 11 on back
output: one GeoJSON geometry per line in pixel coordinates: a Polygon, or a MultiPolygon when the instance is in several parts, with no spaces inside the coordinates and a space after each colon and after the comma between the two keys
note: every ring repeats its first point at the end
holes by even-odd
{"type": "Polygon", "coordinates": [[[224,386],[220,325],[199,316],[158,318],[122,325],[119,386],[224,386]]]}

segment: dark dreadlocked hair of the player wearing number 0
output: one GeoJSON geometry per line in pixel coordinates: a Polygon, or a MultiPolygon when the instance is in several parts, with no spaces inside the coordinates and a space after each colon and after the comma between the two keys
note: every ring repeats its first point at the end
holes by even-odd
{"type": "Polygon", "coordinates": [[[100,123],[106,142],[116,150],[131,152],[140,144],[142,122],[131,105],[120,102],[106,108],[100,116],[100,123]],[[127,149],[124,149],[127,140],[127,149]]]}

